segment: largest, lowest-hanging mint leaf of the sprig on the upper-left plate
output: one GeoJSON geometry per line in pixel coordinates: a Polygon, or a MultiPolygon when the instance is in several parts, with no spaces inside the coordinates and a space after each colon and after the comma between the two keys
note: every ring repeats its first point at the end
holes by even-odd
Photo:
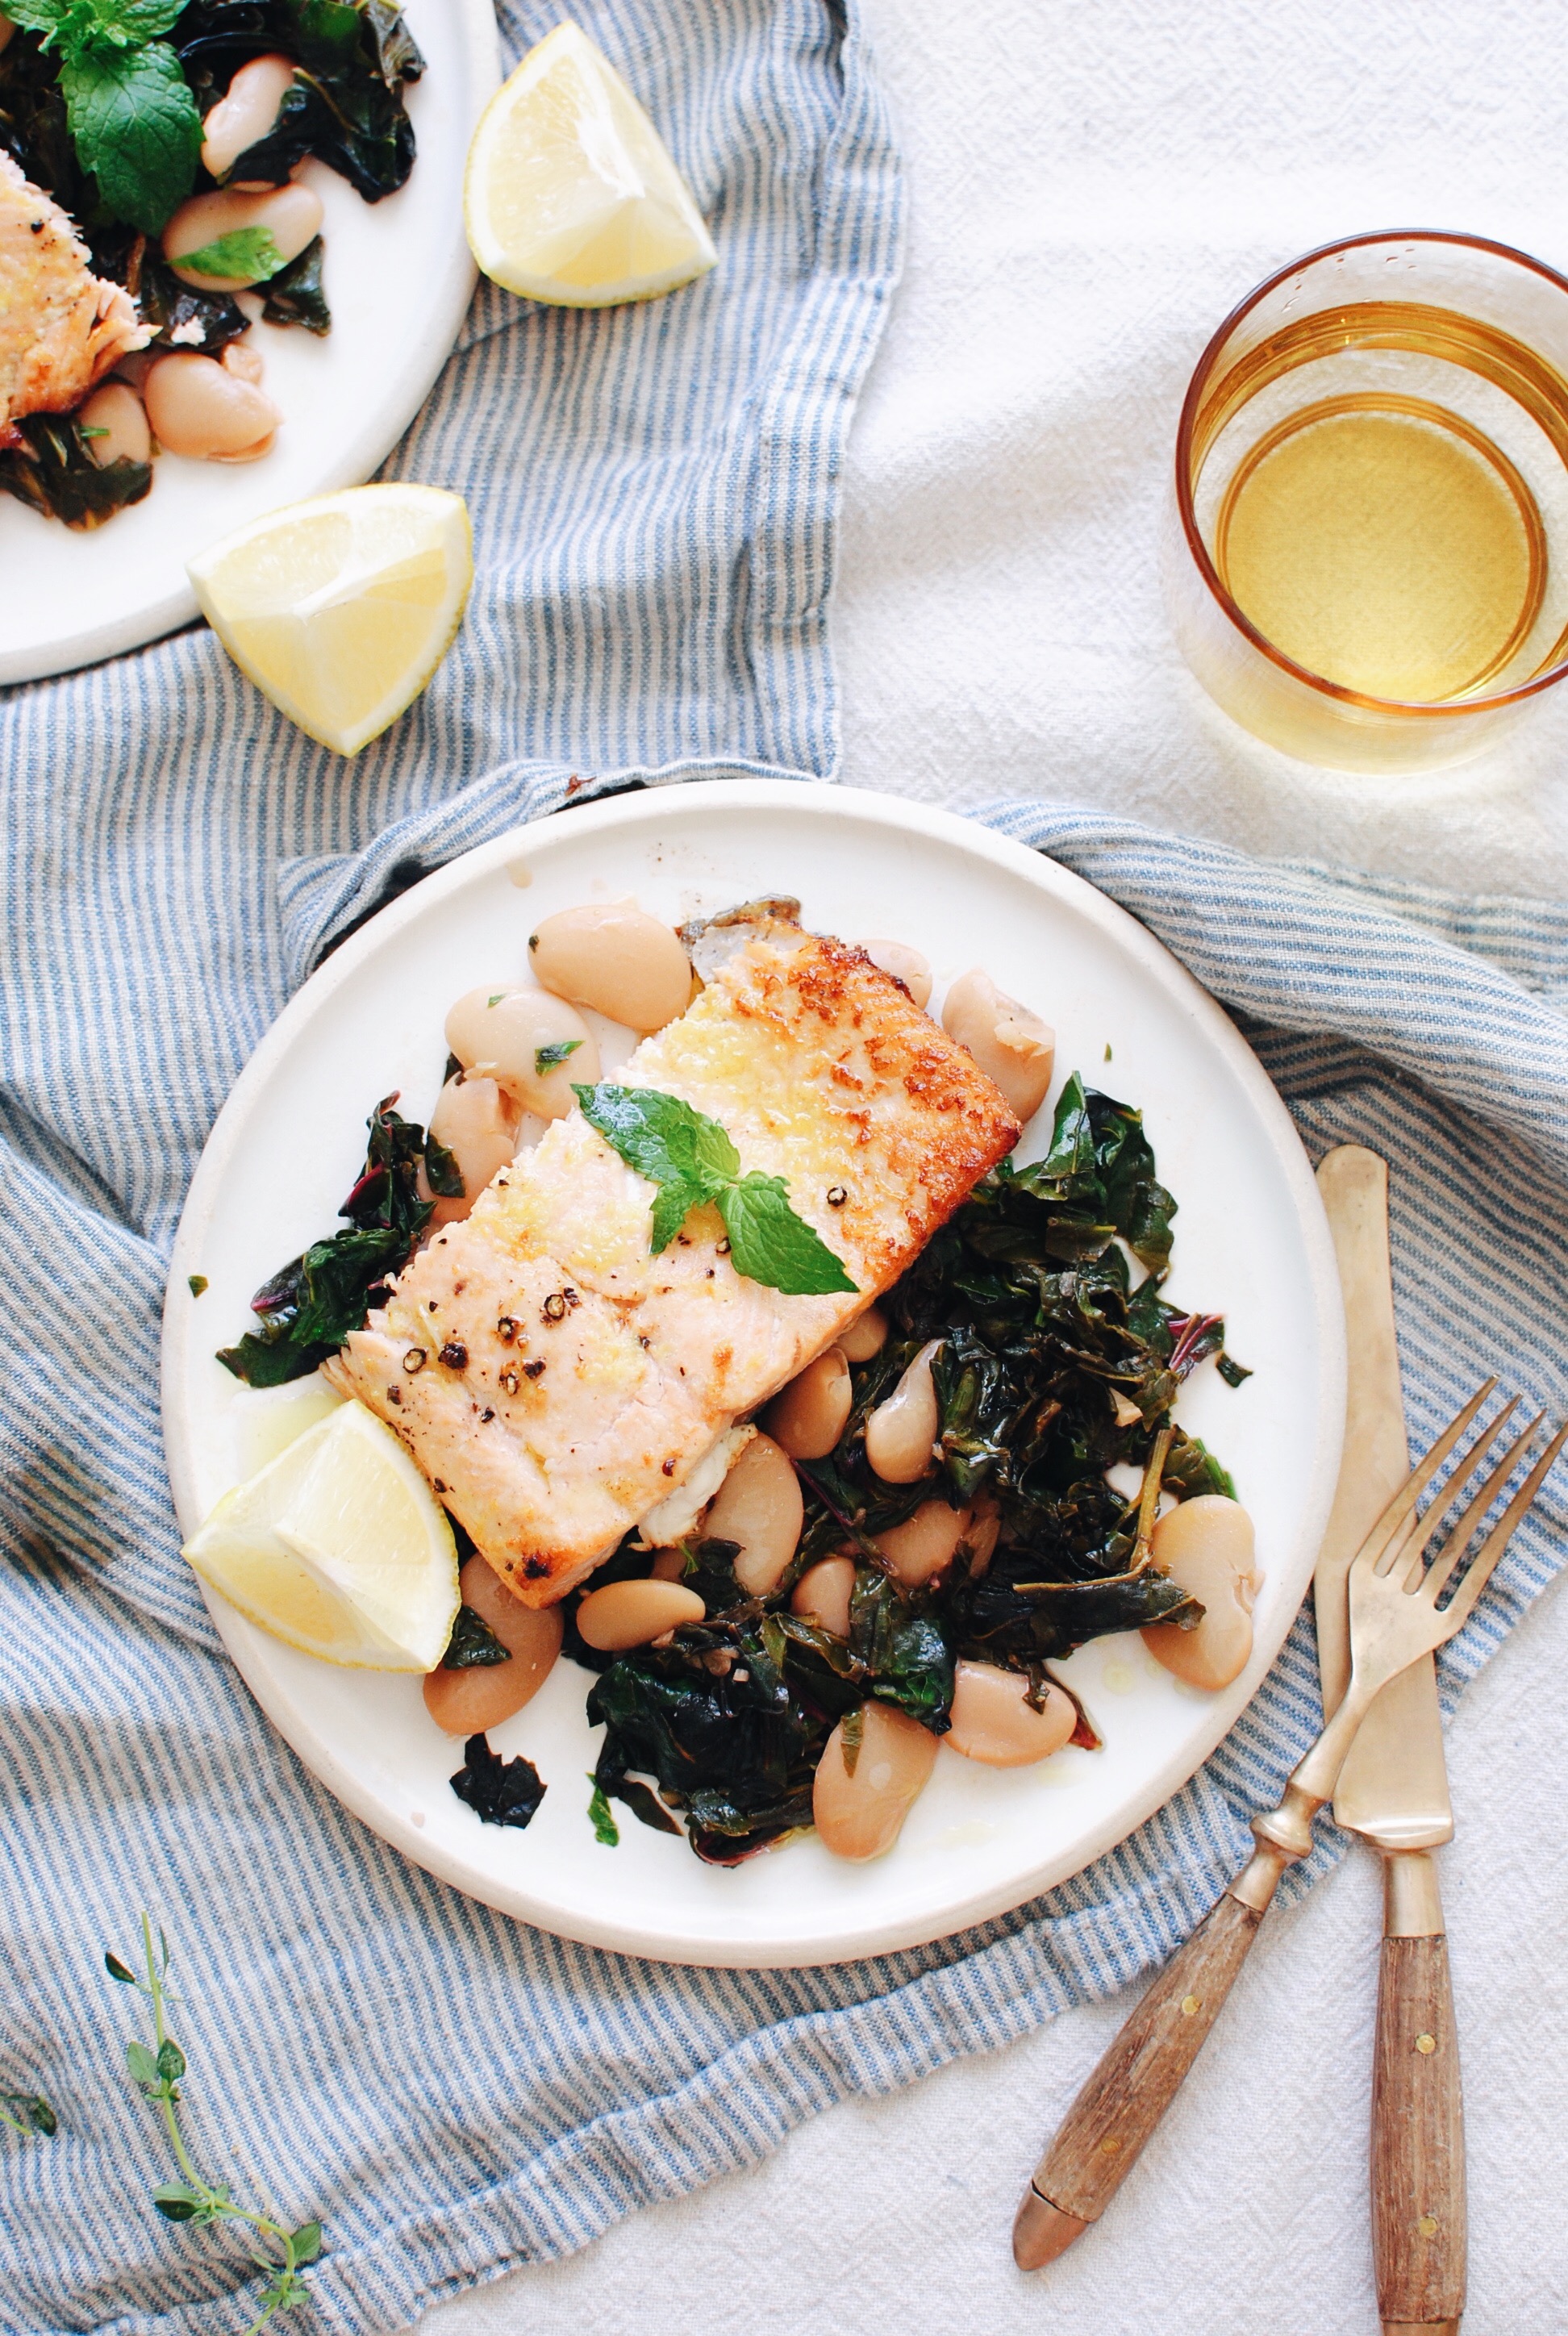
{"type": "Polygon", "coordinates": [[[84,171],[117,220],[157,236],[201,159],[201,114],[168,42],[91,42],[61,65],[65,119],[84,171]]]}

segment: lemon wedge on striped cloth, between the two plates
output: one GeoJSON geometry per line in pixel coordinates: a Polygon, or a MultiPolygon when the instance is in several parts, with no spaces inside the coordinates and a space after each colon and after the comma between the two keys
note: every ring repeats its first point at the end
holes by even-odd
{"type": "Polygon", "coordinates": [[[252,519],[187,575],[241,673],[320,745],[358,755],[463,621],[467,505],[437,486],[346,486],[252,519]]]}

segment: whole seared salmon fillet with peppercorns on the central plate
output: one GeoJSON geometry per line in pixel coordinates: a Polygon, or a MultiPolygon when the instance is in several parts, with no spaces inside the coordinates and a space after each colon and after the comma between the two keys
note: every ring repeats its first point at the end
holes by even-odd
{"type": "Polygon", "coordinates": [[[785,1177],[855,1294],[745,1280],[715,1208],[654,1257],[654,1187],[573,1112],[327,1364],[528,1605],[591,1572],[832,1346],[1019,1138],[991,1079],[862,951],[780,918],[750,932],[617,1077],[717,1119],[743,1173],[785,1177]]]}

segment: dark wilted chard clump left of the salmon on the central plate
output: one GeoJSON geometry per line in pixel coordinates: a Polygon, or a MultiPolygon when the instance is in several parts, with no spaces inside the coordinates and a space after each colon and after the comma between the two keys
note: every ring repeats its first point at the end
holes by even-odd
{"type": "MultiPolygon", "coordinates": [[[[386,1282],[409,1261],[430,1222],[432,1203],[418,1194],[421,1161],[430,1175],[430,1142],[421,1126],[393,1110],[395,1103],[388,1096],[369,1114],[365,1170],[339,1210],[351,1231],[315,1240],[304,1257],[273,1273],[250,1301],[262,1329],[220,1348],[217,1360],[248,1385],[280,1388],[337,1355],[381,1303],[386,1282]]],[[[442,1145],[435,1152],[435,1173],[446,1182],[430,1177],[430,1187],[451,1189],[451,1154],[442,1145]]]]}

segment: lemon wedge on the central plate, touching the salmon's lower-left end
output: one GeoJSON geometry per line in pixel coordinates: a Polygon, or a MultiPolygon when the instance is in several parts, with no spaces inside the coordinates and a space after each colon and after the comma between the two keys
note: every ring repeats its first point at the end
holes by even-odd
{"type": "Polygon", "coordinates": [[[224,1493],[185,1556],[273,1638],[360,1670],[435,1670],[458,1549],[390,1427],[341,1404],[224,1493]]]}

